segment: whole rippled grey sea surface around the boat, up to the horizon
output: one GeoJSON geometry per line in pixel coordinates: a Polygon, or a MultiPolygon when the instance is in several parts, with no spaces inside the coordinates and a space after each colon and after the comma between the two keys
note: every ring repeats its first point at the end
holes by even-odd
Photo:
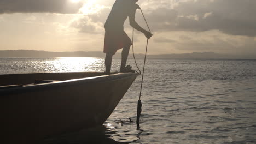
{"type": "MultiPolygon", "coordinates": [[[[136,121],[141,76],[101,127],[39,143],[256,143],[256,60],[150,59],[145,69],[140,130],[127,118],[136,121]]],[[[59,71],[104,71],[104,59],[0,58],[0,74],[59,71]]]]}

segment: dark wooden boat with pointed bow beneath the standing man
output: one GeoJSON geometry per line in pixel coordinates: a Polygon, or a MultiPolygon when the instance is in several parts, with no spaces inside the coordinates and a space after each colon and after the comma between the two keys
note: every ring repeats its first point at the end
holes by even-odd
{"type": "Polygon", "coordinates": [[[103,124],[137,76],[95,72],[0,75],[1,139],[30,143],[103,124]]]}

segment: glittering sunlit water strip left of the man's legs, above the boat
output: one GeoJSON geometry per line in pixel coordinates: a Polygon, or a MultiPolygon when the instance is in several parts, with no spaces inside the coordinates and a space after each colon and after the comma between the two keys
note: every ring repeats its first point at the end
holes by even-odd
{"type": "Polygon", "coordinates": [[[0,58],[0,74],[104,71],[104,59],[94,57],[0,58]]]}

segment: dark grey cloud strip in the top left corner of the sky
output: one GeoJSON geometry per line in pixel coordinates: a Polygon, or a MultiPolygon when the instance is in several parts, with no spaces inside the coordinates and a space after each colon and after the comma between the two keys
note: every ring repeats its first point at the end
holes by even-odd
{"type": "Polygon", "coordinates": [[[0,14],[3,13],[77,13],[83,2],[71,0],[0,0],[0,14]]]}

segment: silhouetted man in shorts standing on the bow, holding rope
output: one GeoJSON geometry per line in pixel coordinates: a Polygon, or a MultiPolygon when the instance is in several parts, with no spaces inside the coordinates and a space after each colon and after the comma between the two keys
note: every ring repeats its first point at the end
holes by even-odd
{"type": "Polygon", "coordinates": [[[106,73],[108,74],[111,70],[112,56],[117,50],[122,48],[120,72],[126,72],[125,65],[132,45],[131,39],[124,31],[124,22],[127,17],[129,17],[130,25],[144,33],[148,39],[153,35],[139,26],[135,21],[136,9],[140,9],[136,2],[138,2],[138,0],[116,0],[104,25],[104,53],[106,53],[105,67],[106,73]]]}

